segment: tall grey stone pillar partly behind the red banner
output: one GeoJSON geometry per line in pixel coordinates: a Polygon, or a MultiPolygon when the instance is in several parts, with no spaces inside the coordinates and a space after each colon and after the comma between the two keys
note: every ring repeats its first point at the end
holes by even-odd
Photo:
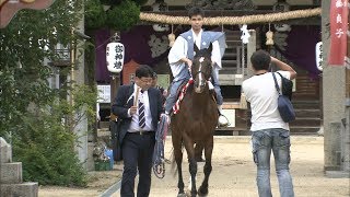
{"type": "Polygon", "coordinates": [[[330,1],[322,1],[322,39],[323,39],[323,109],[326,171],[340,170],[340,127],[345,117],[346,72],[345,67],[328,65],[329,51],[329,9],[330,1]],[[338,152],[338,154],[337,154],[338,152]],[[338,155],[338,157],[337,157],[338,155]]]}

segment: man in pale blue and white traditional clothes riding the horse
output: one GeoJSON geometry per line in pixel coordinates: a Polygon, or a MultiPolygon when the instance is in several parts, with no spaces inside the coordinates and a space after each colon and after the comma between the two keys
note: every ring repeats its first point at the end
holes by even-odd
{"type": "Polygon", "coordinates": [[[191,28],[180,34],[171,51],[168,53],[168,62],[172,69],[174,80],[171,85],[170,94],[165,101],[165,114],[170,115],[177,99],[177,91],[179,86],[189,80],[189,68],[192,66],[195,56],[194,45],[199,49],[208,48],[212,43],[212,73],[211,83],[217,94],[217,104],[220,113],[219,126],[228,126],[229,121],[222,116],[223,97],[219,84],[219,70],[221,69],[221,58],[225,48],[225,35],[222,32],[203,31],[203,11],[200,8],[191,8],[188,12],[191,28]]]}

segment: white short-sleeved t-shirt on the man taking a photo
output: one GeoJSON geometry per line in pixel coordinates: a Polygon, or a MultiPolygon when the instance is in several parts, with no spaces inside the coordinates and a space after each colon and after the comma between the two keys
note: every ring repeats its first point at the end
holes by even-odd
{"type": "MultiPolygon", "coordinates": [[[[290,79],[289,71],[278,71],[284,78],[290,79]]],[[[281,88],[281,77],[276,74],[279,86],[281,88]]],[[[289,130],[289,124],[284,123],[277,108],[278,93],[271,72],[260,76],[253,76],[242,83],[246,100],[252,108],[250,131],[270,128],[283,128],[289,130]]]]}

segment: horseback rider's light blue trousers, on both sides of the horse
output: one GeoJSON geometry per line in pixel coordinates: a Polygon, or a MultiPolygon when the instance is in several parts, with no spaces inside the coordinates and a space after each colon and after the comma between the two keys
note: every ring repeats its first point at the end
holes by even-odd
{"type": "MultiPolygon", "coordinates": [[[[165,101],[165,112],[166,113],[171,113],[173,106],[176,103],[176,99],[177,99],[177,90],[179,89],[179,86],[187,80],[189,80],[190,78],[190,73],[189,70],[187,68],[187,66],[179,72],[179,74],[173,80],[172,84],[171,84],[171,89],[170,89],[170,94],[166,97],[165,101]]],[[[217,103],[218,105],[222,105],[223,103],[223,97],[221,94],[221,89],[220,89],[220,84],[219,84],[219,79],[218,79],[218,71],[215,71],[215,69],[212,69],[212,73],[211,73],[211,83],[214,86],[214,91],[217,94],[217,103]]]]}

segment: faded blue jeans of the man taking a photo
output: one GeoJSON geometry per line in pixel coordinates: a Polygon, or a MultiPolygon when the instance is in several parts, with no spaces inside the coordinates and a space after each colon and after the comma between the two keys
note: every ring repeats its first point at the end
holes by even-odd
{"type": "Polygon", "coordinates": [[[290,132],[273,128],[254,131],[252,136],[253,157],[257,165],[257,186],[259,197],[271,197],[270,155],[275,157],[276,173],[281,197],[294,197],[290,164],[290,132]]]}

